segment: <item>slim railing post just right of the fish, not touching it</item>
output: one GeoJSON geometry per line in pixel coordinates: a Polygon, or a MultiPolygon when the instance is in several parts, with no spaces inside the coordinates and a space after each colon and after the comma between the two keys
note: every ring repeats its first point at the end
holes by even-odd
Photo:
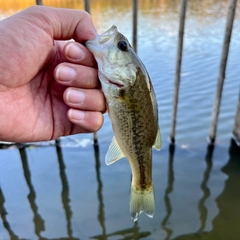
{"type": "Polygon", "coordinates": [[[171,133],[170,133],[171,144],[175,144],[177,107],[178,107],[178,96],[179,96],[179,87],[180,87],[180,78],[181,78],[180,75],[181,75],[181,65],[182,65],[182,50],[183,50],[186,8],[187,8],[187,0],[181,0],[177,62],[176,62],[176,74],[175,74],[175,88],[174,88],[174,94],[173,94],[172,125],[171,125],[171,133]]]}

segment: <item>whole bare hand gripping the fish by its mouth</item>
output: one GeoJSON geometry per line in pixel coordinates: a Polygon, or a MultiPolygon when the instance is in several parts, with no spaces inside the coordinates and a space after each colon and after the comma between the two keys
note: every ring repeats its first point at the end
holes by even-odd
{"type": "Polygon", "coordinates": [[[102,126],[96,62],[81,44],[95,36],[84,11],[34,6],[0,22],[1,141],[51,140],[102,126]]]}

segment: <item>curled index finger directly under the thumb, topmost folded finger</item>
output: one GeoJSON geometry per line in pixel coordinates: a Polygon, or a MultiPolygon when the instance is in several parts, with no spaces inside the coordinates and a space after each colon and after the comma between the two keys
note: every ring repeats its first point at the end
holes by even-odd
{"type": "Polygon", "coordinates": [[[97,68],[97,63],[93,57],[93,54],[80,43],[67,43],[63,49],[63,52],[65,58],[71,63],[78,63],[97,68]]]}

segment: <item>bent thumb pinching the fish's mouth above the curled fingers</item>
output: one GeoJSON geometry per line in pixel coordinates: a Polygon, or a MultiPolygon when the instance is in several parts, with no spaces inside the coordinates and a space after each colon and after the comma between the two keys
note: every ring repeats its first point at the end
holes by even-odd
{"type": "Polygon", "coordinates": [[[27,12],[31,21],[42,27],[52,39],[73,38],[78,42],[84,42],[96,37],[91,16],[85,11],[33,6],[23,12],[27,12]]]}

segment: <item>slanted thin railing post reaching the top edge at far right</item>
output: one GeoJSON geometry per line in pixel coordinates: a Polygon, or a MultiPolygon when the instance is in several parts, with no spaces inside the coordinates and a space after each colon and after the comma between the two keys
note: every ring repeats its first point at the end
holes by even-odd
{"type": "Polygon", "coordinates": [[[218,115],[219,115],[221,98],[222,98],[222,90],[223,90],[223,84],[225,79],[225,72],[226,72],[226,66],[227,66],[229,45],[231,41],[236,4],[237,4],[237,0],[229,1],[221,64],[220,64],[220,69],[218,74],[217,90],[216,90],[215,101],[214,101],[213,110],[212,110],[212,118],[211,118],[212,121],[211,121],[210,131],[209,131],[209,144],[214,144],[216,139],[218,115]]]}

